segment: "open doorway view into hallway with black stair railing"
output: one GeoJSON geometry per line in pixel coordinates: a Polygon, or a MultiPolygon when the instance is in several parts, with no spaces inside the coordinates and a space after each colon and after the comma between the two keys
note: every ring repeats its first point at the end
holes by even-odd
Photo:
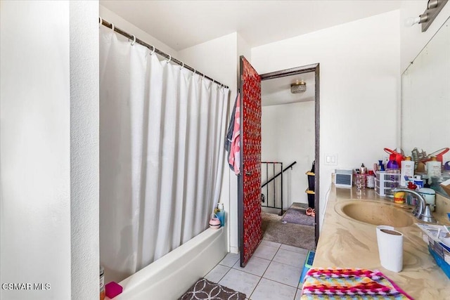
{"type": "Polygon", "coordinates": [[[263,80],[262,236],[314,249],[315,74],[263,80]],[[283,171],[281,171],[281,169],[283,171]]]}

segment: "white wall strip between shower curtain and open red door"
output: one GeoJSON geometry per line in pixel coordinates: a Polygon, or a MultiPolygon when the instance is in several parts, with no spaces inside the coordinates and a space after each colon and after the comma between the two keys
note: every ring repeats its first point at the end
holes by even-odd
{"type": "MultiPolygon", "coordinates": [[[[227,34],[218,39],[212,39],[203,44],[179,51],[179,60],[195,67],[198,71],[229,86],[229,113],[227,114],[227,127],[231,110],[236,98],[238,77],[238,34],[227,34]]],[[[223,138],[225,138],[224,132],[223,138]]],[[[227,159],[228,160],[228,159],[227,159]]],[[[238,252],[238,208],[237,208],[237,177],[224,162],[224,179],[222,183],[219,202],[224,203],[226,211],[226,230],[228,235],[228,248],[231,252],[238,252]]]]}

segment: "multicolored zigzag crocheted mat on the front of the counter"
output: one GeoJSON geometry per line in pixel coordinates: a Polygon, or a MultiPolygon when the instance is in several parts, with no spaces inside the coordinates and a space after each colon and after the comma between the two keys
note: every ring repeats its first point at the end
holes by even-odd
{"type": "Polygon", "coordinates": [[[302,300],[411,299],[378,270],[311,268],[304,278],[302,300]]]}

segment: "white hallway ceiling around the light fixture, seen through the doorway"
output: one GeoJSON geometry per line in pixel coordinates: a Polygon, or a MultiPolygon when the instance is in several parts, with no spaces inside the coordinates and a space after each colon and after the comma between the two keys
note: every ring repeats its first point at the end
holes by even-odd
{"type": "Polygon", "coordinates": [[[261,81],[262,106],[281,105],[315,100],[314,72],[296,74],[288,77],[261,81]],[[303,93],[290,93],[290,84],[303,80],[307,90],[303,93]]]}

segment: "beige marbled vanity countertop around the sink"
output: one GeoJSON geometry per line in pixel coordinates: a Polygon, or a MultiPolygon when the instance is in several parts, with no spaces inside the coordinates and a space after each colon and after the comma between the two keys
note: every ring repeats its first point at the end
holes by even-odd
{"type": "MultiPolygon", "coordinates": [[[[404,234],[403,270],[396,273],[383,268],[378,256],[376,226],[338,214],[336,204],[348,201],[378,201],[394,204],[375,194],[373,189],[362,193],[355,188],[330,188],[325,218],[314,256],[314,267],[367,268],[380,270],[414,299],[450,299],[450,279],[437,266],[415,224],[395,227],[404,234]]],[[[433,213],[439,223],[450,225],[444,214],[433,213]]],[[[418,220],[414,220],[418,223],[418,220]]],[[[386,224],[388,225],[388,224],[386,224]]]]}

